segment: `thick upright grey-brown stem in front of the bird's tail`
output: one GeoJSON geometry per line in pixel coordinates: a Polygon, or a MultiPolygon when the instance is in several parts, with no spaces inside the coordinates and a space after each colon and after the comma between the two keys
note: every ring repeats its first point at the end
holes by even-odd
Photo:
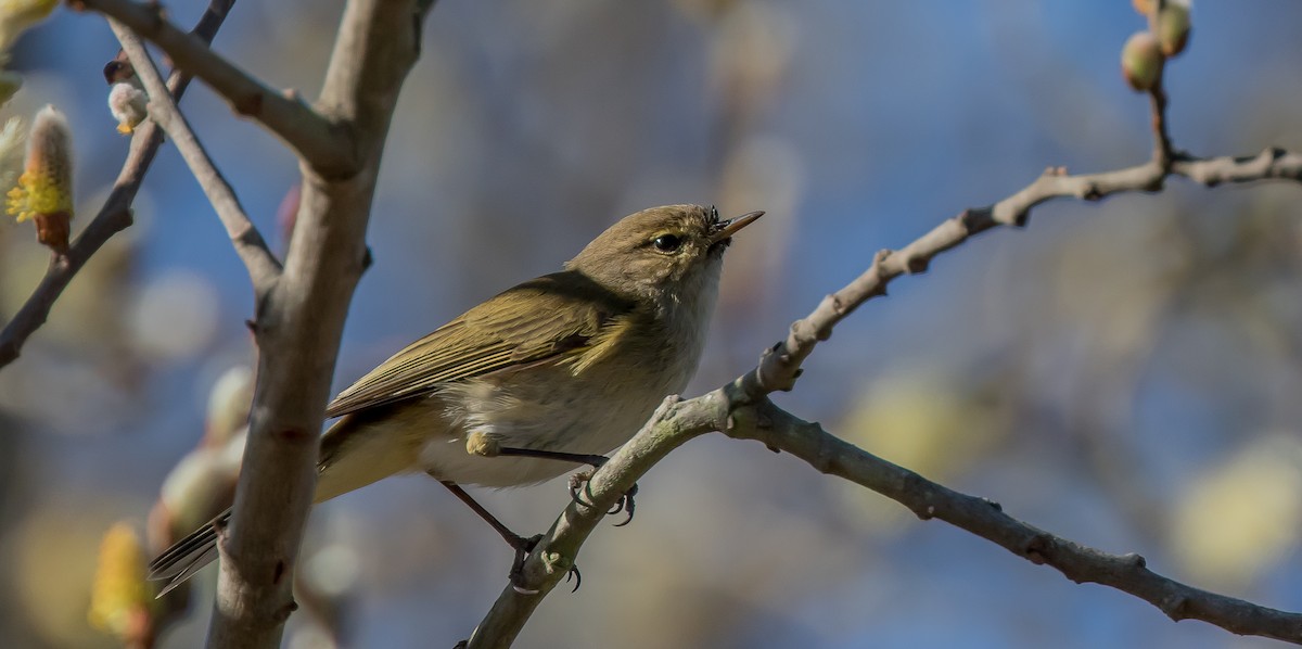
{"type": "Polygon", "coordinates": [[[366,224],[398,90],[415,64],[427,4],[353,0],[322,90],[322,116],[353,134],[357,173],[302,160],[285,268],[253,324],[258,382],[208,646],[279,646],[316,480],[316,446],[344,317],[366,258],[366,224]]]}

